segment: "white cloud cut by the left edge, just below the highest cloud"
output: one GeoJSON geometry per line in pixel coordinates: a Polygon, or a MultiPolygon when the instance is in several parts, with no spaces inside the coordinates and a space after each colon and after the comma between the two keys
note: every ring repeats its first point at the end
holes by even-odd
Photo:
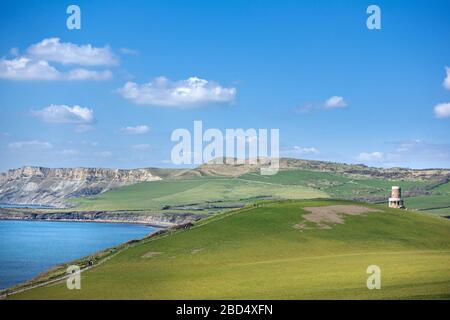
{"type": "Polygon", "coordinates": [[[25,57],[0,60],[0,78],[10,80],[58,80],[61,74],[44,60],[25,57]]]}

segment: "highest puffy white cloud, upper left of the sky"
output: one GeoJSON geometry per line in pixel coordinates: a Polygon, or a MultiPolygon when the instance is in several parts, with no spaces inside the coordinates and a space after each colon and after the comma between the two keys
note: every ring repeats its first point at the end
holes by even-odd
{"type": "Polygon", "coordinates": [[[54,61],[61,64],[82,66],[115,65],[116,56],[109,47],[96,48],[90,44],[77,45],[60,42],[59,38],[48,38],[31,45],[27,53],[37,59],[54,61]]]}

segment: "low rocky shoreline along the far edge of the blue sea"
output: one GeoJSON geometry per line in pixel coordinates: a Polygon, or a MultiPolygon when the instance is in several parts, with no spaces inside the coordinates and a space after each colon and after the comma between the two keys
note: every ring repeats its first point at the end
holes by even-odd
{"type": "Polygon", "coordinates": [[[54,211],[0,208],[0,220],[133,223],[170,228],[193,223],[204,215],[192,213],[149,213],[133,211],[54,211]]]}

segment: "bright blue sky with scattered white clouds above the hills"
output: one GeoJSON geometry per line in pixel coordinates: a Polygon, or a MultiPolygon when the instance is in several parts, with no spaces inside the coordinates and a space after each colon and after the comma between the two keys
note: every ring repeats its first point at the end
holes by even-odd
{"type": "Polygon", "coordinates": [[[449,1],[2,1],[0,170],[171,166],[170,135],[194,120],[278,128],[283,156],[449,167],[449,12],[449,1]],[[81,30],[66,27],[70,4],[81,30]],[[381,30],[366,27],[370,4],[381,30]]]}

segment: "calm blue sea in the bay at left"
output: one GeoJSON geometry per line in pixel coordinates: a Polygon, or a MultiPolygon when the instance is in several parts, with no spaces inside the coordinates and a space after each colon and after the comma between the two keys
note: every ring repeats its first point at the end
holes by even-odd
{"type": "Polygon", "coordinates": [[[118,223],[0,220],[0,288],[156,230],[118,223]]]}

